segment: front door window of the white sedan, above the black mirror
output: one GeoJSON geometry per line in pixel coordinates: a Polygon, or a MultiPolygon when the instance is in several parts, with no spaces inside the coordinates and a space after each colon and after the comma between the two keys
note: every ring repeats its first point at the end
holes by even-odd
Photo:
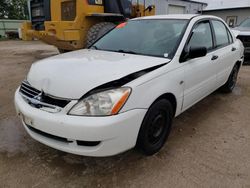
{"type": "Polygon", "coordinates": [[[190,47],[206,47],[207,50],[213,48],[213,38],[209,22],[201,22],[196,25],[187,47],[188,49],[190,47]]]}

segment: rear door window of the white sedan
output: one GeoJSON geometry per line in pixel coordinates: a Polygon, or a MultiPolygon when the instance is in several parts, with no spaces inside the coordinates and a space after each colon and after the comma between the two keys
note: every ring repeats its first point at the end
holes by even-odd
{"type": "Polygon", "coordinates": [[[217,20],[212,20],[212,24],[215,32],[216,47],[227,46],[230,44],[229,33],[226,26],[221,21],[217,20]]]}

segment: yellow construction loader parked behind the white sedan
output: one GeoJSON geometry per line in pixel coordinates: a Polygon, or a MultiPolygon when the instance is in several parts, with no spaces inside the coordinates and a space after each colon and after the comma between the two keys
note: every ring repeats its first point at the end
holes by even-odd
{"type": "Polygon", "coordinates": [[[42,40],[60,52],[88,47],[126,19],[155,14],[154,4],[146,0],[29,0],[28,3],[30,21],[22,24],[22,39],[42,40]]]}

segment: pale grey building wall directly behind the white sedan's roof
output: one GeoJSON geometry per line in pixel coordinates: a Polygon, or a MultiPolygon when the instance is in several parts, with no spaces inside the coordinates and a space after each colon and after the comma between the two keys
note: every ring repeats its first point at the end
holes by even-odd
{"type": "Polygon", "coordinates": [[[182,6],[185,8],[185,14],[197,14],[199,11],[202,12],[204,5],[200,3],[187,2],[182,0],[158,0],[155,2],[156,14],[169,14],[169,7],[182,6]]]}

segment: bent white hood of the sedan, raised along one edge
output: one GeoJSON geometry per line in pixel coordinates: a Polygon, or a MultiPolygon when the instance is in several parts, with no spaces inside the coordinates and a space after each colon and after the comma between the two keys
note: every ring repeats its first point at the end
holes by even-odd
{"type": "Polygon", "coordinates": [[[85,49],[34,63],[27,81],[46,94],[79,99],[100,85],[169,61],[166,58],[85,49]]]}

